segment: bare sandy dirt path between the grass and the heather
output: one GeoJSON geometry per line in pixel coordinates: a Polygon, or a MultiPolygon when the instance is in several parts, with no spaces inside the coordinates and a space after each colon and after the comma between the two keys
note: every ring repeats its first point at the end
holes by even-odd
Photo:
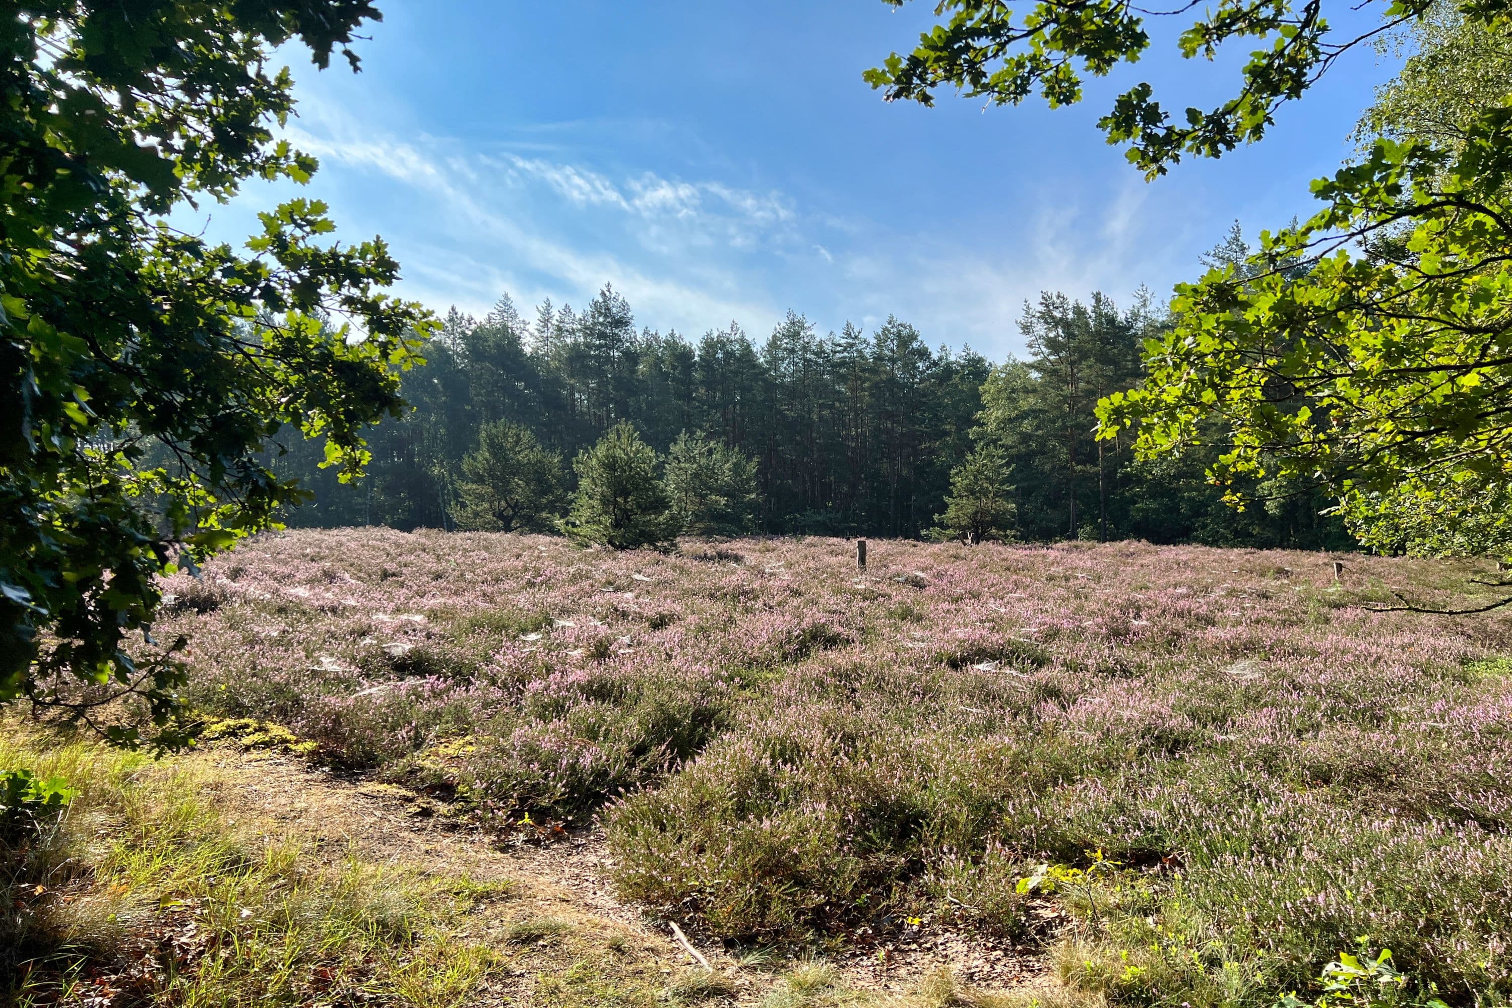
{"type": "MultiPolygon", "coordinates": [[[[665,923],[620,902],[609,884],[612,860],[602,837],[547,846],[500,846],[479,830],[458,827],[434,815],[435,804],[392,784],[343,780],[301,760],[269,753],[216,748],[200,759],[218,772],[215,787],[227,807],[246,809],[287,833],[319,842],[328,851],[355,848],[376,864],[420,867],[467,875],[478,881],[510,880],[541,913],[570,919],[588,929],[624,931],[659,960],[664,973],[692,963],[665,923]]],[[[717,969],[727,972],[741,1002],[753,1002],[774,982],[770,966],[741,969],[721,946],[692,938],[717,969]]],[[[886,991],[913,988],[927,973],[947,966],[968,984],[1004,988],[1043,979],[1043,957],[980,937],[951,931],[921,932],[891,943],[886,952],[857,949],[836,958],[847,985],[886,991]]]]}

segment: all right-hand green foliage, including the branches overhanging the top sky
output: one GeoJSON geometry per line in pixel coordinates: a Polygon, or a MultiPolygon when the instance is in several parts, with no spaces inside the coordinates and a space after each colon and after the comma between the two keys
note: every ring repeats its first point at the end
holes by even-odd
{"type": "MultiPolygon", "coordinates": [[[[1080,101],[1083,73],[1151,44],[1151,12],[1119,5],[1042,0],[1015,21],[998,3],[945,0],[909,56],[866,73],[889,100],[931,104],[951,85],[1016,104],[1039,88],[1054,107],[1080,101]]],[[[1393,0],[1383,14],[1350,38],[1321,3],[1223,0],[1179,47],[1213,59],[1256,38],[1235,97],[1176,124],[1140,83],[1101,119],[1154,177],[1182,154],[1258,141],[1284,101],[1371,36],[1397,29],[1420,48],[1361,119],[1373,141],[1361,163],[1314,183],[1326,210],[1178,287],[1173,323],[1145,340],[1145,385],[1105,399],[1101,431],[1117,443],[1136,428],[1143,458],[1204,458],[1231,503],[1246,481],[1294,497],[1328,487],[1376,549],[1504,553],[1509,21],[1500,3],[1393,0]]]]}

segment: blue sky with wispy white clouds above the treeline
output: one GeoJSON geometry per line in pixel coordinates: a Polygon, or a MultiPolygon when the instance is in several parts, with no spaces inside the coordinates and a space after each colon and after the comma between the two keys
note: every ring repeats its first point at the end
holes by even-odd
{"type": "MultiPolygon", "coordinates": [[[[1308,213],[1393,73],[1353,54],[1263,144],[1145,183],[1093,127],[1111,95],[1151,80],[1208,106],[1232,62],[1167,42],[1077,107],[924,109],[860,79],[910,45],[924,0],[380,6],[361,74],[290,53],[289,136],[322,163],[299,195],[331,204],[337,237],[387,239],[405,296],[481,314],[508,292],[532,317],[612,283],[638,323],[691,337],[730,320],[762,337],[788,308],[821,329],[891,313],[993,358],[1021,349],[1042,289],[1166,293],[1232,221],[1308,213]]],[[[207,231],[249,234],[286,189],[248,186],[207,231]]]]}

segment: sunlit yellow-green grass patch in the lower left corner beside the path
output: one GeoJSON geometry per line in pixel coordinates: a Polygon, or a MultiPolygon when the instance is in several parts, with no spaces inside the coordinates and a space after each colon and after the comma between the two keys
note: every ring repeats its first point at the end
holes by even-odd
{"type": "Polygon", "coordinates": [[[652,1005],[664,985],[661,949],[621,925],[543,917],[531,890],[445,857],[331,840],[360,828],[340,822],[337,795],[260,804],[251,781],[280,777],[213,754],[154,763],[6,728],[0,766],[80,795],[35,842],[0,851],[0,898],[15,907],[0,917],[0,1003],[443,1008],[529,990],[573,1008],[652,1005]],[[310,822],[280,805],[311,807],[310,822]]]}

